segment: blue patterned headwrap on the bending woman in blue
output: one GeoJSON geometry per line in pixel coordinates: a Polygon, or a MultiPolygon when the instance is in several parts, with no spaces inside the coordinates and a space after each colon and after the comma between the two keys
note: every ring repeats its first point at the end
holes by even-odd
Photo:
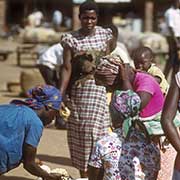
{"type": "Polygon", "coordinates": [[[48,106],[52,109],[60,109],[62,102],[62,96],[60,91],[54,86],[50,85],[39,85],[36,86],[27,92],[29,98],[22,100],[13,100],[12,104],[24,104],[29,106],[32,109],[41,109],[44,106],[48,106]]]}

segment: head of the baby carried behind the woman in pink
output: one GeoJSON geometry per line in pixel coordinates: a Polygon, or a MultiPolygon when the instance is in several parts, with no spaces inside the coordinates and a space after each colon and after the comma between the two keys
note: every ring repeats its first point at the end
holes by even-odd
{"type": "Polygon", "coordinates": [[[132,59],[136,69],[148,71],[153,62],[154,54],[150,48],[143,46],[134,50],[132,59]]]}

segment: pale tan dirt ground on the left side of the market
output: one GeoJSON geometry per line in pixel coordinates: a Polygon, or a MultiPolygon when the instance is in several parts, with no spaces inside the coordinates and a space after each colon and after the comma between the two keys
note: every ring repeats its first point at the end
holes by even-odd
{"type": "MultiPolygon", "coordinates": [[[[0,40],[0,49],[8,49],[14,51],[10,54],[6,61],[0,61],[0,103],[8,103],[14,98],[19,98],[19,93],[8,92],[8,82],[19,82],[20,72],[26,69],[31,69],[35,64],[35,60],[23,60],[22,67],[16,65],[16,48],[18,43],[11,40],[0,40]]],[[[38,157],[48,165],[51,169],[61,167],[65,168],[68,173],[78,178],[78,171],[71,166],[67,144],[67,131],[56,130],[54,126],[44,129],[42,139],[38,146],[38,157]]],[[[4,176],[0,177],[1,180],[34,180],[37,177],[30,175],[26,172],[22,165],[4,176]]]]}

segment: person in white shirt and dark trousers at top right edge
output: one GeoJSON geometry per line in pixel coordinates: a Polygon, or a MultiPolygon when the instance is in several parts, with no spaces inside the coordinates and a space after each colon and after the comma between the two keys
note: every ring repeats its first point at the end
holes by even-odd
{"type": "Polygon", "coordinates": [[[180,60],[178,50],[180,49],[180,0],[173,0],[172,6],[165,12],[165,20],[168,26],[167,40],[169,43],[169,60],[164,69],[167,78],[171,67],[173,75],[179,70],[180,60]]]}

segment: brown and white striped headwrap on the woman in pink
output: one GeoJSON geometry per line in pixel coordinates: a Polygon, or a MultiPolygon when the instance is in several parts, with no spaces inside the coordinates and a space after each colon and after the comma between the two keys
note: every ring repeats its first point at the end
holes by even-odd
{"type": "Polygon", "coordinates": [[[107,55],[99,60],[96,68],[96,75],[104,80],[105,84],[113,85],[119,74],[119,66],[122,63],[121,59],[116,55],[107,55]]]}

